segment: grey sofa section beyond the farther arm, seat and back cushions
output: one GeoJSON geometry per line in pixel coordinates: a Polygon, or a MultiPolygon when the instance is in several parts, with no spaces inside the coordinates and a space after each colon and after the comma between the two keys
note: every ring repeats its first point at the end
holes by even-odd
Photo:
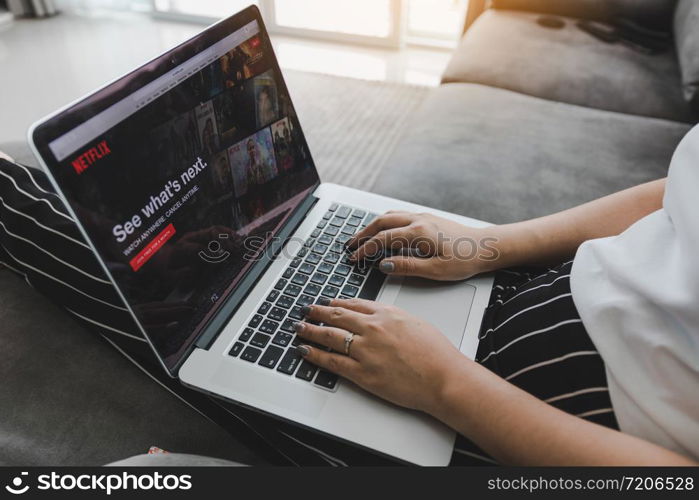
{"type": "Polygon", "coordinates": [[[699,2],[493,4],[466,31],[374,190],[507,223],[663,177],[697,121],[699,2]],[[540,26],[542,13],[565,26],[540,26]],[[677,48],[647,55],[606,44],[565,14],[664,26],[677,48]]]}

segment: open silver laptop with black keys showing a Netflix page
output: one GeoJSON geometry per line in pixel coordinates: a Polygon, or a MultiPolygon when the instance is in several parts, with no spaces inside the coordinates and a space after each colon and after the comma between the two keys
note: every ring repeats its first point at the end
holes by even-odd
{"type": "Polygon", "coordinates": [[[473,358],[492,277],[387,278],[343,244],[392,209],[485,223],[321,183],[256,7],[40,120],[29,142],[171,377],[448,464],[451,429],[304,361],[293,324],[321,297],[361,297],[410,310],[473,358]]]}

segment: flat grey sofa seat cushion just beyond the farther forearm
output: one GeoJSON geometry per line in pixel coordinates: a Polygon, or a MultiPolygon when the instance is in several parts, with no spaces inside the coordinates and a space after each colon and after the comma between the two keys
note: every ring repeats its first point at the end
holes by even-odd
{"type": "Polygon", "coordinates": [[[688,125],[474,84],[435,89],[373,191],[507,223],[663,177],[688,125]]]}

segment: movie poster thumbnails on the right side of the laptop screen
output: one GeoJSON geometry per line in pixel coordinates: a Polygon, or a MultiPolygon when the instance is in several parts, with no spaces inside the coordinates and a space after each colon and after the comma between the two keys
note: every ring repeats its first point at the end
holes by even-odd
{"type": "Polygon", "coordinates": [[[162,168],[180,168],[199,155],[209,162],[214,196],[237,199],[236,226],[275,203],[261,186],[310,159],[268,59],[259,35],[243,42],[188,80],[200,104],[151,133],[153,161],[162,168]]]}

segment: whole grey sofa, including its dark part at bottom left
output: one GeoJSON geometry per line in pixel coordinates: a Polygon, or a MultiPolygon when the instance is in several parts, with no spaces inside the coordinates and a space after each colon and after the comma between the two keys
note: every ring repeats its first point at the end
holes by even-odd
{"type": "MultiPolygon", "coordinates": [[[[699,2],[608,3],[615,8],[500,0],[478,17],[472,10],[444,84],[374,190],[505,223],[665,175],[696,121],[699,2]],[[565,27],[537,25],[535,8],[566,16],[565,27]],[[677,49],[648,56],[607,45],[570,17],[622,14],[672,28],[677,49]]],[[[34,163],[23,145],[0,149],[34,163]]],[[[103,464],[150,445],[267,463],[7,270],[0,304],[0,464],[103,464]]]]}

